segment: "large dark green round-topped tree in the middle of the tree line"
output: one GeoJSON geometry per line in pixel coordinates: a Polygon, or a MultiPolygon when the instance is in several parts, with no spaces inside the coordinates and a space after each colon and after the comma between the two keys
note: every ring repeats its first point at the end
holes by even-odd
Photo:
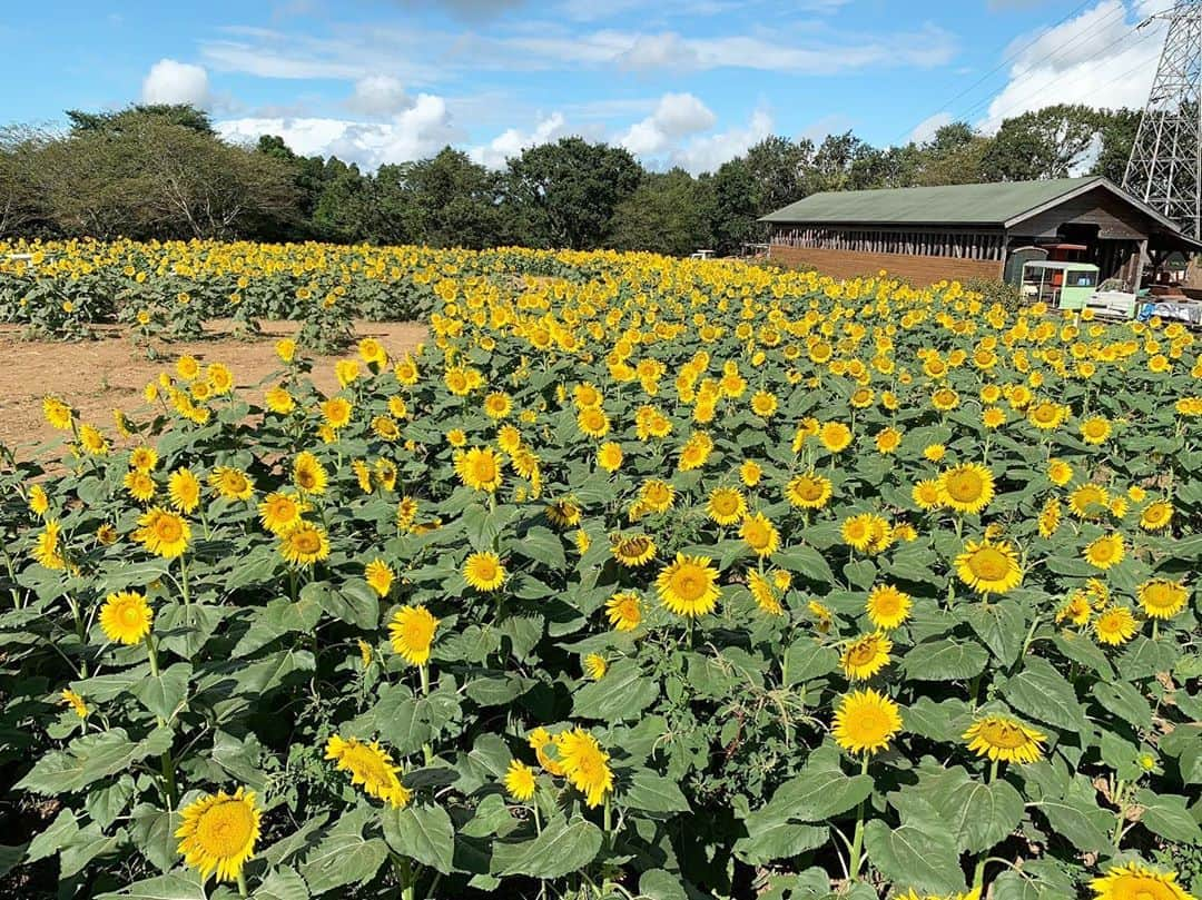
{"type": "Polygon", "coordinates": [[[641,175],[627,150],[605,143],[565,137],[528,148],[508,161],[504,179],[506,237],[531,246],[601,246],[641,175]]]}

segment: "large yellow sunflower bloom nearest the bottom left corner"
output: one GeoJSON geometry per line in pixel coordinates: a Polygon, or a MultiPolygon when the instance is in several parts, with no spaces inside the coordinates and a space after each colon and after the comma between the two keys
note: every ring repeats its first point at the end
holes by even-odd
{"type": "Polygon", "coordinates": [[[255,853],[261,813],[255,793],[239,787],[219,791],[180,810],[175,832],[184,863],[203,878],[216,871],[218,881],[237,881],[243,864],[255,853]]]}

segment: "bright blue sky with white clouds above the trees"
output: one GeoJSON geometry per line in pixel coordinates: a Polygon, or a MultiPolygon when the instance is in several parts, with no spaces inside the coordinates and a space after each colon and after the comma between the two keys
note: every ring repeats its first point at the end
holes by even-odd
{"type": "Polygon", "coordinates": [[[578,133],[712,169],[769,133],[875,144],[1049,102],[1141,106],[1171,0],[48,0],[0,19],[2,117],[208,108],[374,168],[578,133]]]}

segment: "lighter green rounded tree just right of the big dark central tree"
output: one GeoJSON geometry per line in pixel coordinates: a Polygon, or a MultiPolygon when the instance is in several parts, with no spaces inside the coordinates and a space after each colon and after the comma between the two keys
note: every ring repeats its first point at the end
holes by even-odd
{"type": "Polygon", "coordinates": [[[609,245],[665,256],[685,256],[708,248],[708,181],[700,183],[682,168],[648,173],[614,210],[609,245]]]}

